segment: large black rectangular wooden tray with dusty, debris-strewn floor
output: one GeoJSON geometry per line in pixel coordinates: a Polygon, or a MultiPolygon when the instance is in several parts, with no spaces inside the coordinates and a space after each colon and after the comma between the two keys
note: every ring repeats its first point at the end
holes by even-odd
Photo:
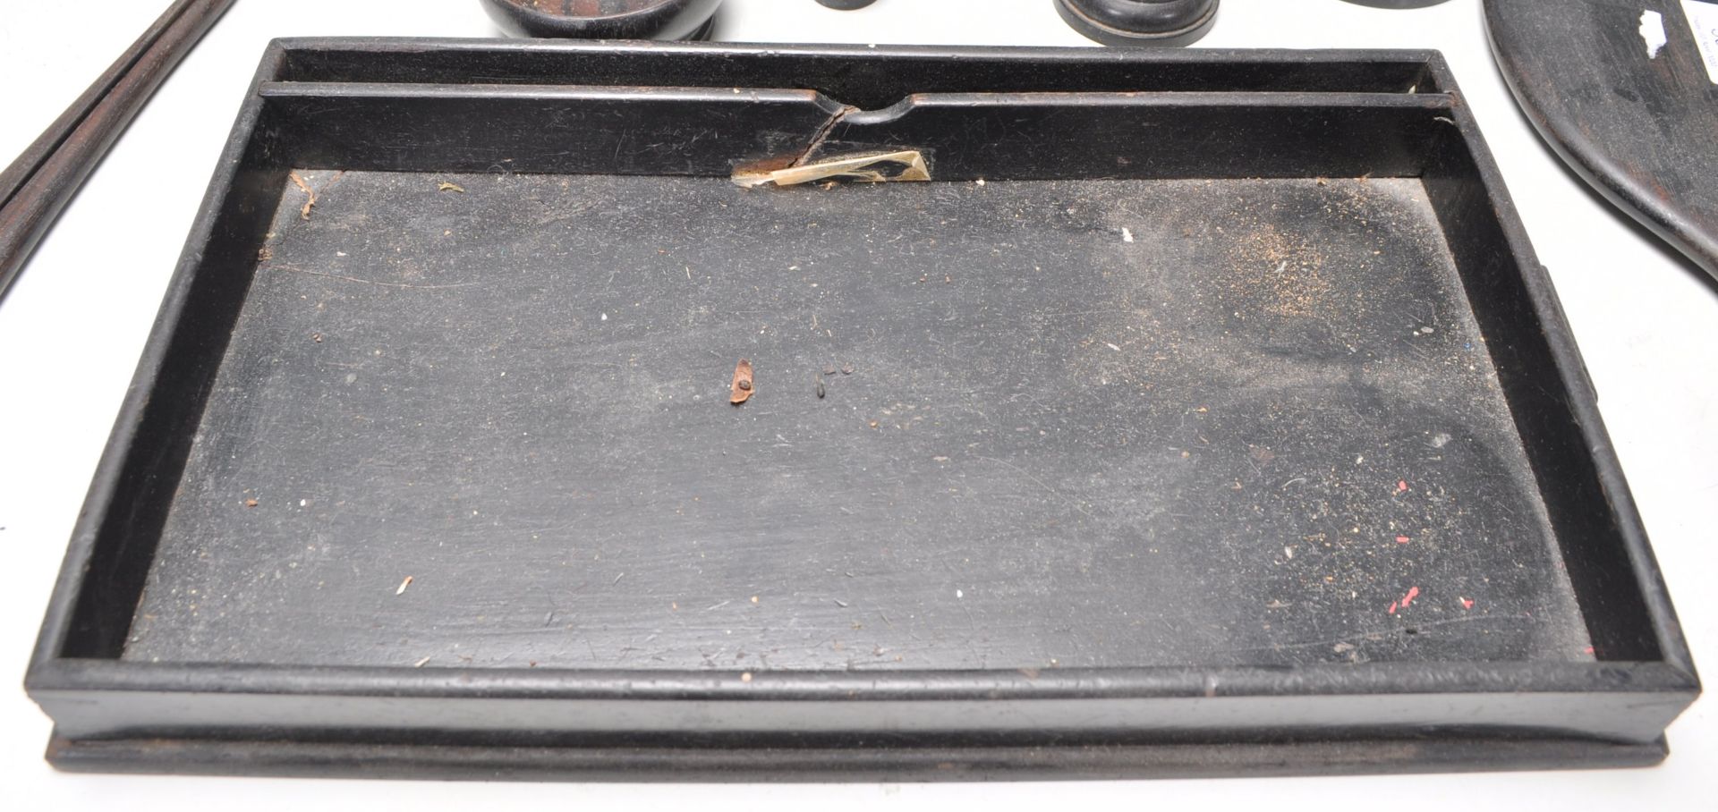
{"type": "Polygon", "coordinates": [[[405,39],[268,50],[27,687],[67,769],[600,779],[1651,764],[1699,690],[1436,53],[405,39]]]}

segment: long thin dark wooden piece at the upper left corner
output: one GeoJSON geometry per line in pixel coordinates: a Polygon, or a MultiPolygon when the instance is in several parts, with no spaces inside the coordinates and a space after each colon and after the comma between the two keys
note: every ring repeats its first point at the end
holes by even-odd
{"type": "Polygon", "coordinates": [[[0,173],[0,295],[113,139],[232,2],[177,0],[0,173]]]}

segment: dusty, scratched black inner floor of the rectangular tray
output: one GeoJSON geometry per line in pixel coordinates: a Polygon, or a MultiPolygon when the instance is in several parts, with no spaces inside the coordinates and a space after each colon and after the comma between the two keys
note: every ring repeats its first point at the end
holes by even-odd
{"type": "Polygon", "coordinates": [[[1417,180],[304,177],[127,659],[1589,657],[1417,180]]]}

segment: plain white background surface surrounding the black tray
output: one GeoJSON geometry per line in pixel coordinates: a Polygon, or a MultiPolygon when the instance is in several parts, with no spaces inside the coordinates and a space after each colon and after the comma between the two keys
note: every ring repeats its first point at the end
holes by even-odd
{"type": "MultiPolygon", "coordinates": [[[[1611,0],[1624,2],[1624,0],[1611,0]]],[[[167,0],[0,0],[0,161],[70,103],[167,0]]],[[[1692,48],[1670,19],[1668,48],[1692,48]]],[[[241,0],[117,142],[0,304],[0,805],[10,809],[692,809],[1268,810],[1378,805],[1718,809],[1718,711],[1670,728],[1646,771],[1055,785],[605,786],[65,776],[22,688],[41,609],[168,275],[265,43],[275,36],[493,36],[476,0],[241,0]],[[19,803],[21,805],[14,805],[19,803]]],[[[1050,0],[728,0],[723,39],[1089,45],[1050,0]]],[[[1438,48],[1550,268],[1696,659],[1718,668],[1718,285],[1569,175],[1491,67],[1479,0],[1376,10],[1340,0],[1225,0],[1201,46],[1438,48]]],[[[1644,50],[1642,50],[1644,55],[1644,50]]],[[[1642,122],[1642,125],[1646,125],[1642,122]]],[[[1715,134],[1713,137],[1718,137],[1715,134]]]]}

